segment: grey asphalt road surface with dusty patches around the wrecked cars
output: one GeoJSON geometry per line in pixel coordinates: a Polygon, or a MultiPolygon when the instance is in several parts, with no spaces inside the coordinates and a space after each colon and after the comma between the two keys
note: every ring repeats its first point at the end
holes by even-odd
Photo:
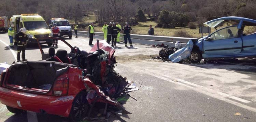
{"type": "MultiPolygon", "coordinates": [[[[89,51],[88,38],[67,39],[71,45],[89,51]]],[[[11,50],[7,34],[0,34],[0,62],[15,61],[16,48],[11,50]]],[[[109,121],[131,122],[255,122],[256,117],[256,68],[253,60],[225,61],[207,64],[176,64],[150,60],[158,48],[134,44],[134,48],[116,47],[115,70],[139,87],[130,94],[138,101],[128,99],[123,105],[133,114],[110,117],[109,121]],[[239,64],[239,65],[238,65],[239,64]],[[250,64],[249,66],[247,64],[250,64]],[[236,116],[237,112],[241,113],[236,116]]],[[[68,48],[59,43],[59,49],[68,48]]],[[[48,46],[44,46],[47,51],[48,46]]],[[[69,51],[68,51],[69,52],[69,51]]],[[[28,60],[40,60],[37,47],[28,47],[28,60]]],[[[63,122],[66,118],[40,115],[34,112],[15,115],[0,104],[0,121],[63,122]]]]}

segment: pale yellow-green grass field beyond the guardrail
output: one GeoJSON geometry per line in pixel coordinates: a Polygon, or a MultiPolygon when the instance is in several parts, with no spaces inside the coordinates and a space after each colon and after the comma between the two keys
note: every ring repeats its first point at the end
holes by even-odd
{"type": "MultiPolygon", "coordinates": [[[[74,21],[73,20],[69,20],[71,23],[74,21]]],[[[82,19],[81,23],[90,23],[96,21],[96,16],[95,15],[91,15],[89,14],[88,17],[85,17],[82,19]]],[[[132,31],[131,34],[142,34],[142,35],[147,35],[148,34],[148,29],[149,29],[149,25],[152,25],[152,27],[155,27],[157,25],[157,23],[155,21],[147,21],[147,22],[139,22],[138,25],[136,26],[132,26],[132,31]]],[[[121,25],[123,26],[123,25],[121,25]]],[[[94,28],[95,32],[102,32],[102,27],[98,27],[98,25],[96,24],[96,27],[94,28]]],[[[248,28],[251,29],[251,28],[248,28]]],[[[245,28],[245,31],[248,30],[247,28],[245,28]]],[[[168,28],[154,28],[154,35],[156,36],[174,36],[176,31],[179,30],[184,30],[186,31],[188,34],[191,35],[191,38],[199,38],[202,36],[202,34],[199,34],[199,28],[197,29],[189,29],[188,27],[176,27],[175,29],[168,29],[168,28]]],[[[81,31],[86,31],[86,29],[81,29],[81,31]]],[[[211,28],[211,32],[216,31],[214,28],[211,28]]],[[[203,36],[207,36],[208,34],[204,34],[203,36]]]]}

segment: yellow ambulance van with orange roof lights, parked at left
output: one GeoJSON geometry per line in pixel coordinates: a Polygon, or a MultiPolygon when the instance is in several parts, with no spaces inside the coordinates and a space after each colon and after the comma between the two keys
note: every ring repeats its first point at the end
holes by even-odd
{"type": "MultiPolygon", "coordinates": [[[[20,28],[27,29],[28,44],[37,44],[36,39],[42,37],[52,37],[52,32],[49,30],[44,18],[38,14],[21,14],[11,17],[11,23],[14,25],[14,34],[18,33],[20,28]]],[[[41,44],[52,45],[52,40],[40,40],[41,44]]],[[[17,45],[14,40],[14,45],[17,45]]]]}

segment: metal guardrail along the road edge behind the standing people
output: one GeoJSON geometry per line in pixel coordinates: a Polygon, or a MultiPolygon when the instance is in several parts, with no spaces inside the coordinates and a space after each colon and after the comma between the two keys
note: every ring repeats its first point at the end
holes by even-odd
{"type": "MultiPolygon", "coordinates": [[[[78,31],[77,33],[88,35],[87,31],[78,31]]],[[[104,36],[104,33],[103,32],[95,32],[95,35],[96,36],[104,36]]],[[[122,38],[123,34],[120,34],[120,37],[122,38]]],[[[131,34],[131,38],[132,39],[141,39],[141,40],[163,41],[163,42],[180,41],[181,43],[187,43],[190,39],[195,39],[195,38],[182,38],[182,37],[171,37],[171,36],[149,36],[149,35],[138,35],[138,34],[131,34]]]]}

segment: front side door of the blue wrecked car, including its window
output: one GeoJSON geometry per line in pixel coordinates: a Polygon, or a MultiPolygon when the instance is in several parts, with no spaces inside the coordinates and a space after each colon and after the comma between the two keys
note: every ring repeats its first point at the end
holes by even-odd
{"type": "Polygon", "coordinates": [[[230,26],[213,32],[203,41],[204,58],[224,58],[239,55],[242,49],[237,26],[230,26]]]}

